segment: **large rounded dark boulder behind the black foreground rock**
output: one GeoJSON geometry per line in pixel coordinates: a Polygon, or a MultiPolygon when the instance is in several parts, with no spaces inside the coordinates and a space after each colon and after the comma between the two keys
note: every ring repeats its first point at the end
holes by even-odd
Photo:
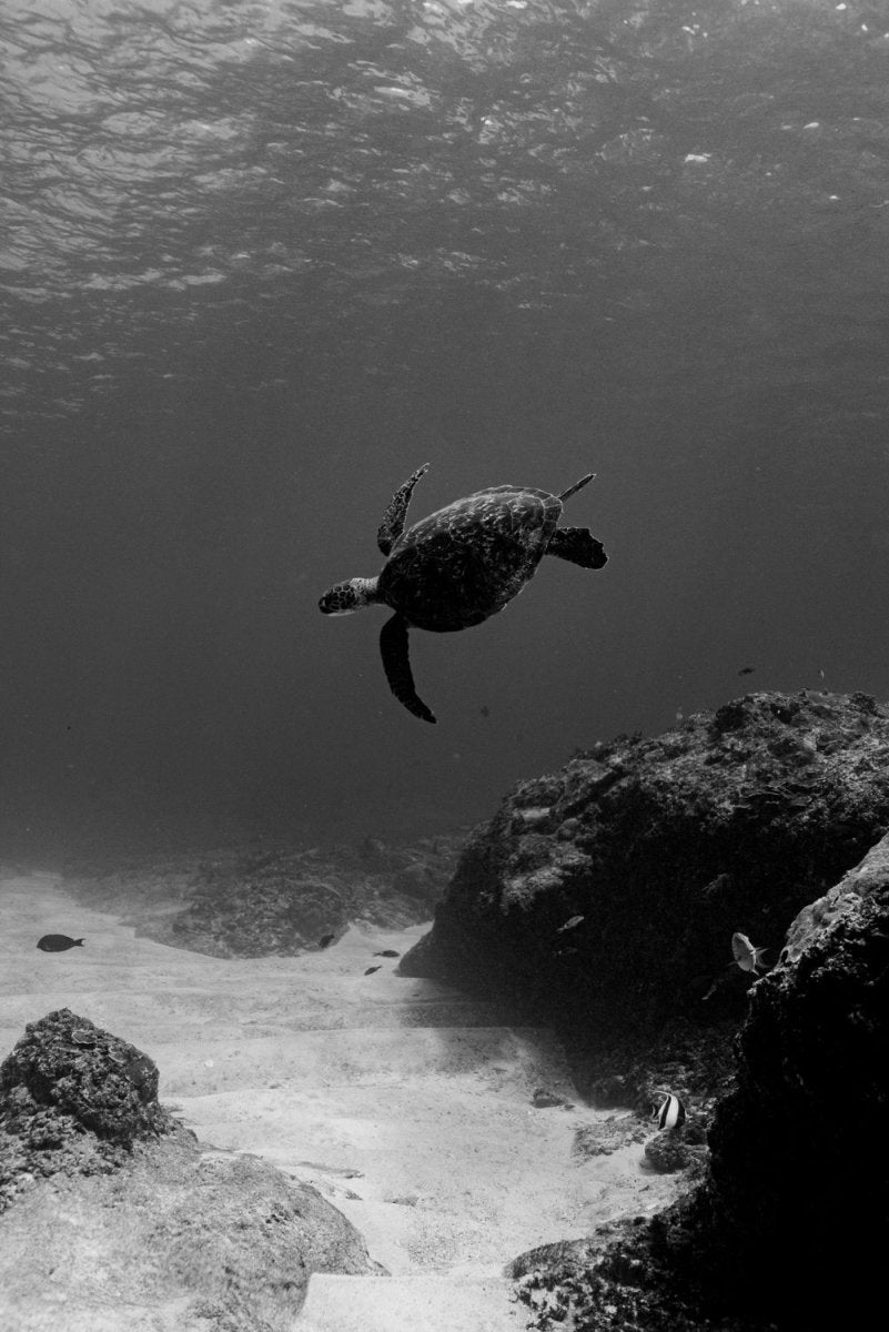
{"type": "Polygon", "coordinates": [[[506,996],[566,1038],[583,1091],[712,1104],[752,980],[889,829],[889,709],[755,693],[519,783],[470,836],[405,975],[506,996]]]}

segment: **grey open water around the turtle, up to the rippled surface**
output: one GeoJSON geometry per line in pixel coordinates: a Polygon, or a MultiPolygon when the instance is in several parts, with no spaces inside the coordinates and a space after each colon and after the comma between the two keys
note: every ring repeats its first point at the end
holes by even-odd
{"type": "Polygon", "coordinates": [[[889,12],[3,0],[5,854],[415,835],[748,689],[889,691],[889,12]],[[413,635],[417,519],[610,554],[413,635]],[[739,671],[752,673],[739,677],[739,671]]]}

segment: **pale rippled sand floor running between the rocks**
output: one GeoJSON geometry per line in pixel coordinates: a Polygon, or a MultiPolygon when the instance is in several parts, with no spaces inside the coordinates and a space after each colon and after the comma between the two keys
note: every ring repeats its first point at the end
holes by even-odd
{"type": "Polygon", "coordinates": [[[53,1008],[92,1019],[156,1060],[161,1100],[202,1142],[315,1184],[393,1273],[314,1276],[302,1332],[523,1327],[504,1263],[679,1191],[639,1146],[571,1156],[575,1128],[602,1116],[531,1106],[540,1086],[575,1099],[552,1032],[498,1026],[486,1004],[373,956],[429,926],[232,962],[137,939],[53,875],[1,882],[0,911],[0,1058],[53,1008]],[[43,954],[47,932],[87,944],[43,954]]]}

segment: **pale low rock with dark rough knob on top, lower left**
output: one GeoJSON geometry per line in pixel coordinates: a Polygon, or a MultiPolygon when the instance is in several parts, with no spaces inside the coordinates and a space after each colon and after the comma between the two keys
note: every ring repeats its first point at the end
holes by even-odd
{"type": "Polygon", "coordinates": [[[4,1328],[287,1332],[313,1271],[379,1271],[317,1189],[202,1148],[154,1063],[67,1008],[0,1066],[0,1212],[4,1328]]]}

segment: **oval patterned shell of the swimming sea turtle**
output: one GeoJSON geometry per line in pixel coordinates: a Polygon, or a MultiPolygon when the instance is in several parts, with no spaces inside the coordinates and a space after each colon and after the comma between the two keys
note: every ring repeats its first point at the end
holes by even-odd
{"type": "Polygon", "coordinates": [[[492,486],[431,513],[391,549],[378,593],[418,629],[479,625],[522,591],[562,514],[547,490],[492,486]]]}

